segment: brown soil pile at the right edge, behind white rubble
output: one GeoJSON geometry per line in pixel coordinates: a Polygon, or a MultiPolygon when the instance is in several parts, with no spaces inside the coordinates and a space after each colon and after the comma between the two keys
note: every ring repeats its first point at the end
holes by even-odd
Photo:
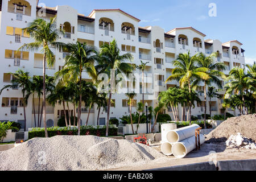
{"type": "Polygon", "coordinates": [[[241,133],[256,141],[256,114],[229,118],[207,135],[207,143],[226,142],[231,135],[241,133]]]}

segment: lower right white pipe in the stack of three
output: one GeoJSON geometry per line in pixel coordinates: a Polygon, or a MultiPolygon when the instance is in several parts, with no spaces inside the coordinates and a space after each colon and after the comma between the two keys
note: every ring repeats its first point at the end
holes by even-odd
{"type": "MultiPolygon", "coordinates": [[[[204,135],[200,134],[200,144],[205,142],[204,135]]],[[[175,143],[172,146],[172,154],[178,159],[184,158],[189,152],[196,148],[195,136],[185,139],[182,142],[175,143]]]]}

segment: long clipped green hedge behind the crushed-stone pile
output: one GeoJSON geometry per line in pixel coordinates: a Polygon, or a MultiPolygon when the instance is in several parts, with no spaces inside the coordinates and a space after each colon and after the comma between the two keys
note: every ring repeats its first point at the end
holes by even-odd
{"type": "MultiPolygon", "coordinates": [[[[77,135],[78,130],[77,128],[68,129],[67,127],[60,128],[60,127],[51,127],[47,129],[49,137],[55,137],[56,135],[77,135]]],[[[110,126],[109,127],[109,136],[117,136],[118,129],[110,126]]],[[[97,127],[94,128],[92,126],[81,126],[80,135],[94,135],[98,137],[105,137],[106,136],[106,127],[97,127]]],[[[28,132],[28,139],[32,138],[45,138],[46,133],[44,129],[32,129],[32,131],[28,132]]]]}

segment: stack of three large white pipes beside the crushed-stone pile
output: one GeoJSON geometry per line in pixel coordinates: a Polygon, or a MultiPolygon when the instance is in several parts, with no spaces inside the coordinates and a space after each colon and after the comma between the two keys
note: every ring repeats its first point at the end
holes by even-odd
{"type": "MultiPolygon", "coordinates": [[[[196,148],[195,131],[200,126],[193,124],[168,131],[166,134],[166,142],[162,143],[161,150],[164,155],[174,155],[176,158],[184,158],[189,152],[196,148]]],[[[200,134],[200,143],[205,142],[204,135],[200,134]]]]}

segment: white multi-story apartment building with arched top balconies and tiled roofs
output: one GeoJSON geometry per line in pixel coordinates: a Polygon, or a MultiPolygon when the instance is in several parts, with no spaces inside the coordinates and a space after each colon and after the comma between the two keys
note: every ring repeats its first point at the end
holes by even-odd
{"type": "MultiPolygon", "coordinates": [[[[205,40],[205,34],[195,30],[192,27],[174,28],[171,31],[164,32],[163,28],[158,26],[139,27],[140,20],[119,9],[93,10],[88,16],[79,14],[71,6],[47,7],[41,9],[38,7],[37,0],[0,0],[0,87],[10,84],[13,79],[9,74],[18,69],[23,69],[30,73],[30,76],[42,76],[43,55],[41,52],[18,51],[24,43],[32,42],[29,35],[23,34],[22,28],[36,18],[49,18],[56,16],[57,26],[65,30],[65,35],[60,36],[59,42],[87,43],[99,48],[104,43],[109,43],[113,39],[117,40],[121,53],[130,52],[134,61],[133,64],[149,62],[145,73],[147,77],[144,81],[145,102],[150,106],[158,104],[159,92],[167,90],[172,86],[178,85],[178,82],[172,81],[165,84],[165,80],[171,75],[172,61],[179,53],[190,51],[192,55],[197,52],[203,52],[209,55],[212,52],[218,52],[216,61],[223,62],[227,70],[233,67],[244,67],[245,58],[242,44],[237,40],[227,43],[221,43],[219,40],[205,40]],[[44,14],[45,13],[45,14],[44,14]],[[150,73],[150,74],[148,74],[150,73]],[[153,92],[148,90],[153,89],[153,92]]],[[[53,76],[64,65],[64,58],[68,52],[52,50],[56,55],[55,66],[47,68],[47,75],[53,76]]],[[[141,73],[137,70],[137,73],[141,73]]],[[[90,77],[83,73],[83,79],[90,80],[90,77]]],[[[140,80],[140,87],[142,88],[140,80]]],[[[201,86],[203,90],[203,85],[201,86]]],[[[142,93],[142,89],[141,93],[142,93]]],[[[142,94],[135,98],[138,102],[142,101],[142,94]]],[[[204,101],[203,94],[201,100],[204,101]]],[[[120,118],[129,114],[127,107],[127,98],[125,94],[114,94],[114,104],[112,104],[110,117],[120,118]]],[[[209,101],[209,99],[208,99],[209,101]]],[[[38,105],[38,98],[35,98],[35,105],[38,105]]],[[[42,99],[41,99],[42,102],[42,99]]],[[[23,124],[23,102],[20,88],[14,85],[13,89],[4,90],[0,96],[0,120],[17,121],[23,124]]],[[[192,110],[192,115],[201,117],[204,114],[204,104],[197,105],[192,110]]],[[[221,100],[214,98],[211,103],[212,114],[221,114],[221,100]]],[[[70,106],[72,108],[72,106],[70,106]]],[[[135,104],[134,104],[135,107],[135,104]]],[[[93,108],[89,118],[89,125],[97,124],[97,107],[93,108]]],[[[181,107],[180,107],[181,110],[181,107]]],[[[135,108],[133,108],[135,111],[135,108]]],[[[229,110],[230,113],[237,115],[237,111],[229,110]]],[[[35,113],[40,111],[36,108],[35,113]]],[[[47,105],[47,125],[56,126],[58,118],[63,115],[63,107],[56,105],[52,107],[47,105]]],[[[73,112],[72,112],[73,113],[73,112]]],[[[172,110],[167,109],[166,113],[172,117],[172,110]]],[[[209,111],[207,111],[209,113],[209,111]]],[[[180,111],[181,114],[181,111],[180,111]]],[[[34,116],[32,112],[32,98],[30,98],[26,107],[27,124],[26,129],[34,126],[34,116]]],[[[82,109],[82,124],[85,125],[88,115],[88,109],[82,109]]],[[[180,117],[181,118],[181,117],[180,117]]],[[[36,117],[37,119],[37,117],[36,117]]],[[[102,108],[100,113],[100,124],[105,125],[106,111],[102,108]]]]}

